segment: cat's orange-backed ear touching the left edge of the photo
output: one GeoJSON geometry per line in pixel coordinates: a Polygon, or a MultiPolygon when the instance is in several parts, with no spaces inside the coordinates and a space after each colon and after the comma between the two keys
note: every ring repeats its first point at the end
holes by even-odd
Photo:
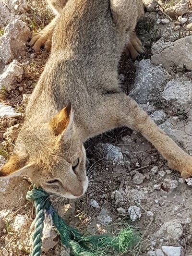
{"type": "Polygon", "coordinates": [[[26,159],[15,153],[8,162],[0,169],[0,178],[10,178],[13,176],[25,176],[32,170],[32,164],[26,164],[26,159]]]}

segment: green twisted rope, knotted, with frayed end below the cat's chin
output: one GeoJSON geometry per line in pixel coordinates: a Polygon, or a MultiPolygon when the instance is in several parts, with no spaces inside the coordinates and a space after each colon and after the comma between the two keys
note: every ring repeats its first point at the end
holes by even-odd
{"type": "Polygon", "coordinates": [[[51,213],[53,223],[60,233],[62,244],[71,248],[74,256],[107,256],[111,251],[111,247],[116,251],[127,251],[135,244],[135,236],[130,228],[122,229],[117,237],[112,235],[90,235],[84,236],[75,228],[70,227],[64,219],[52,207],[48,199],[49,194],[44,190],[36,189],[28,191],[26,198],[35,200],[36,219],[35,231],[33,233],[33,247],[31,256],[41,255],[43,221],[45,210],[51,213]]]}

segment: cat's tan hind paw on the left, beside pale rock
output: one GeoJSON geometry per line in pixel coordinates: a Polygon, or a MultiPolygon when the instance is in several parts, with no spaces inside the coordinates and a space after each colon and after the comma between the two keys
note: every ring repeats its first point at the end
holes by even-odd
{"type": "Polygon", "coordinates": [[[47,31],[40,31],[39,33],[34,33],[29,45],[34,49],[36,52],[40,52],[41,48],[47,49],[50,51],[51,49],[51,39],[52,33],[48,33],[47,31]]]}

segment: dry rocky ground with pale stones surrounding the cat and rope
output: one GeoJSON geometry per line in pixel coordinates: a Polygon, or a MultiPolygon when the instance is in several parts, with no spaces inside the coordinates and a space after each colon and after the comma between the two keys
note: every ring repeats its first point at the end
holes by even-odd
{"type": "MultiPolygon", "coordinates": [[[[125,56],[120,82],[153,120],[192,155],[192,2],[144,0],[137,34],[145,47],[135,63],[125,56]]],[[[53,15],[41,0],[0,1],[0,166],[9,158],[28,98],[48,53],[27,46],[32,32],[53,15]]],[[[141,134],[119,129],[89,143],[90,178],[84,198],[53,204],[84,234],[130,225],[140,240],[123,255],[192,256],[192,179],[183,180],[141,134]],[[136,213],[136,214],[135,214],[136,213]]],[[[29,255],[34,206],[26,202],[27,179],[0,180],[0,255],[29,255]]],[[[45,256],[67,256],[52,229],[45,256]]]]}

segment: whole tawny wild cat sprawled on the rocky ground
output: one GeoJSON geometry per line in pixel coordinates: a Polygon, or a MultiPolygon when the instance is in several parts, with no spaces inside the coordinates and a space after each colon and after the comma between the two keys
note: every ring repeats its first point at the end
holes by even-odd
{"type": "Polygon", "coordinates": [[[0,177],[26,175],[48,193],[77,198],[88,186],[83,143],[117,127],[140,132],[170,168],[191,176],[192,157],[120,88],[117,67],[128,39],[130,52],[141,49],[134,34],[141,1],[50,2],[57,15],[31,45],[38,50],[49,41],[51,53],[0,177]]]}

